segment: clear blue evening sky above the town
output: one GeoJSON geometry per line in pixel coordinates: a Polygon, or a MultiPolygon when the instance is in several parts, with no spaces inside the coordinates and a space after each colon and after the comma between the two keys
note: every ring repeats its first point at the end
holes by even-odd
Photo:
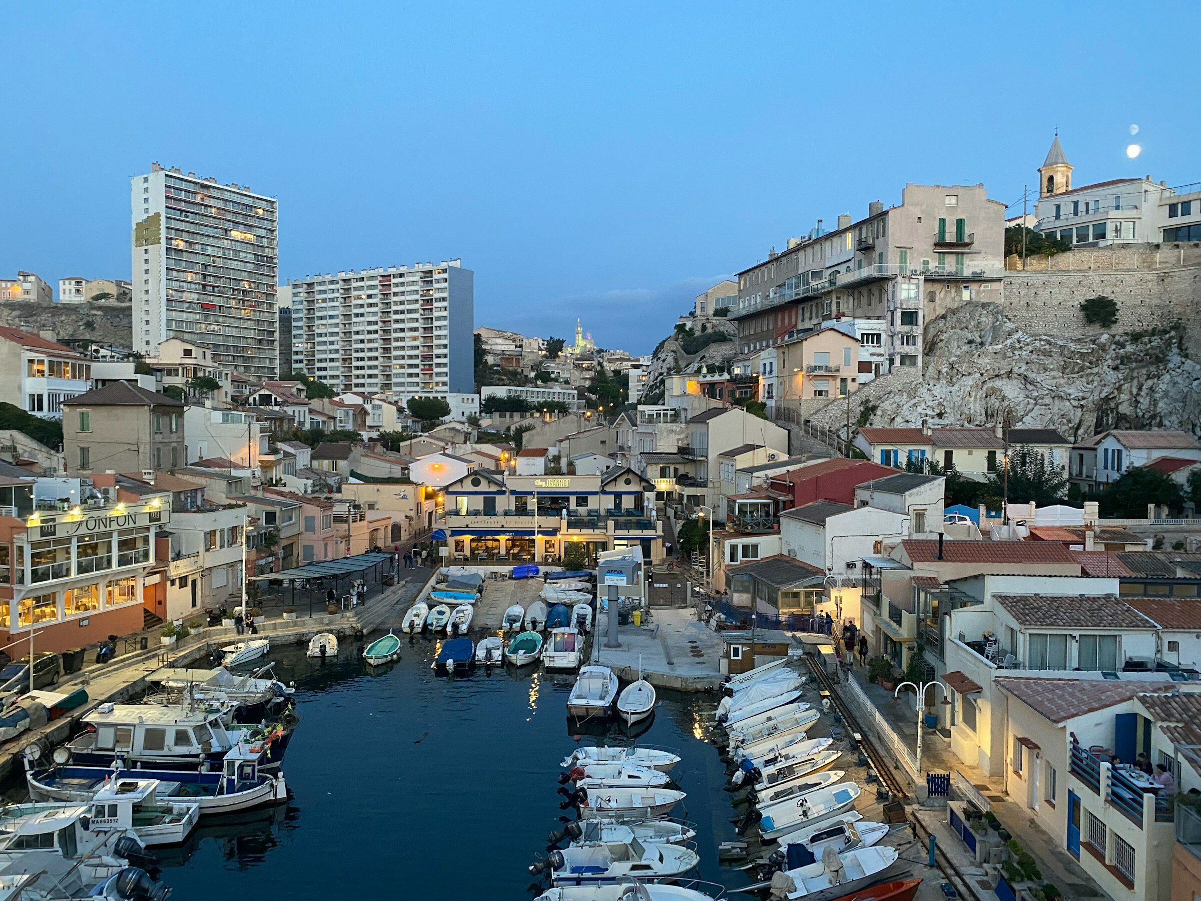
{"type": "Polygon", "coordinates": [[[0,273],[129,278],[129,177],[159,161],[279,197],[282,280],[461,257],[477,324],[579,316],[649,352],[818,217],[906,181],[1018,199],[1056,125],[1077,184],[1201,179],[1196,41],[1172,49],[1199,25],[1104,0],[8,2],[0,273]]]}

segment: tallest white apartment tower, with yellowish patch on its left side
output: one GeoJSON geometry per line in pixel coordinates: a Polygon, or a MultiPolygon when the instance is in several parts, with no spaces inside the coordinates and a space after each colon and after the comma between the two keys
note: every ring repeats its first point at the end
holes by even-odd
{"type": "Polygon", "coordinates": [[[275,378],[274,198],[159,163],[131,181],[133,344],[180,338],[250,378],[275,378]]]}

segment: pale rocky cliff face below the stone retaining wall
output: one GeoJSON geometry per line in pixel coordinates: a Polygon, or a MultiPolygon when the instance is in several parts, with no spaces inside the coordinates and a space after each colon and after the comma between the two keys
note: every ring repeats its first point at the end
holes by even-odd
{"type": "Polygon", "coordinates": [[[928,323],[922,377],[874,399],[872,425],[1053,426],[1070,438],[1115,428],[1201,434],[1201,365],[1179,329],[1028,334],[998,304],[928,323]]]}

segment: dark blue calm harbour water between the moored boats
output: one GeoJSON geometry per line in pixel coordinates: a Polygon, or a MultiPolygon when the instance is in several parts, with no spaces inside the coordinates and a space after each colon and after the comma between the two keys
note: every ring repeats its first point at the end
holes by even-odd
{"type": "MultiPolygon", "coordinates": [[[[435,642],[417,639],[368,674],[362,645],[321,666],[303,650],[273,651],[295,680],[303,718],[283,771],[293,799],[274,811],[202,825],[163,855],[175,901],[239,897],[528,899],[526,866],[560,828],[560,762],[575,742],[566,716],[569,675],[478,672],[435,676],[435,642]],[[399,891],[398,891],[399,890],[399,891]]],[[[659,693],[640,744],[683,760],[688,793],[676,816],[698,829],[699,876],[741,885],[717,866],[736,839],[716,748],[699,735],[717,698],[659,693]]],[[[617,727],[613,727],[615,735],[617,727]]],[[[585,740],[588,740],[587,738],[585,740]]],[[[207,823],[209,821],[202,821],[207,823]]]]}

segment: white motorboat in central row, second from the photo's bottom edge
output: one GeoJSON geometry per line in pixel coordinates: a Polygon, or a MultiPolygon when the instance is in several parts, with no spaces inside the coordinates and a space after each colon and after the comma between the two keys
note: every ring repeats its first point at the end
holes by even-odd
{"type": "Polygon", "coordinates": [[[640,879],[670,879],[700,864],[700,855],[679,845],[597,842],[552,851],[533,864],[533,876],[550,875],[555,885],[605,885],[637,876],[640,879]]]}

